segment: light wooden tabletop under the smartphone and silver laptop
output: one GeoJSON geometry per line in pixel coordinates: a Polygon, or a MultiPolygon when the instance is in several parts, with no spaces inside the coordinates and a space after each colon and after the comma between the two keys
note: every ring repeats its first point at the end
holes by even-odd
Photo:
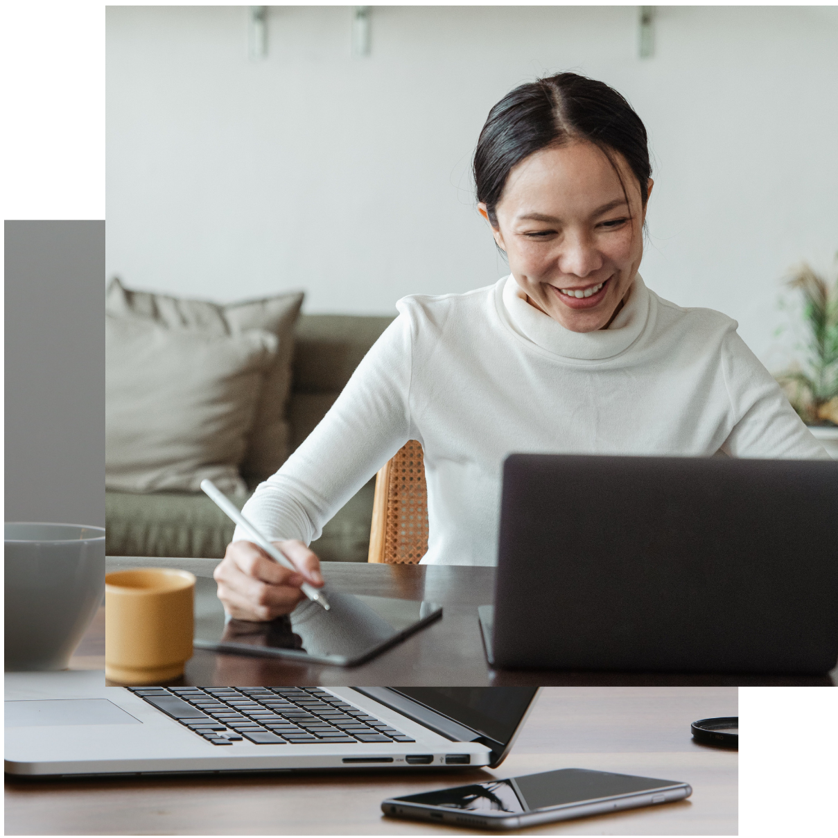
{"type": "Polygon", "coordinates": [[[8,779],[6,835],[473,835],[385,818],[380,802],[493,777],[594,768],[691,784],[675,804],[531,827],[530,835],[738,835],[739,754],[690,722],[737,716],[735,687],[547,687],[494,770],[260,777],[8,779]]]}

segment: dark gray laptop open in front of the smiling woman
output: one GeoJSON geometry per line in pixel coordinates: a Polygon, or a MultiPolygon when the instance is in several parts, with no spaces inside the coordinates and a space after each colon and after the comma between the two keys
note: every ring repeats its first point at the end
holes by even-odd
{"type": "Polygon", "coordinates": [[[515,454],[500,668],[824,673],[838,658],[838,463],[515,454]]]}

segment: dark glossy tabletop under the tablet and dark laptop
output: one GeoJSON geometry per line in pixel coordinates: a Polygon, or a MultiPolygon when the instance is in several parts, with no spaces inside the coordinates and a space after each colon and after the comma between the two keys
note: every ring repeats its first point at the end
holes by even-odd
{"type": "MultiPolygon", "coordinates": [[[[215,559],[107,559],[109,571],[136,566],[169,566],[209,578],[217,564],[215,559]]],[[[324,561],[323,576],[329,585],[350,593],[441,603],[442,619],[375,660],[352,668],[301,665],[287,660],[216,654],[196,649],[187,664],[184,679],[173,683],[199,686],[833,685],[826,675],[491,670],[480,636],[477,607],[492,602],[494,568],[324,561]]]]}

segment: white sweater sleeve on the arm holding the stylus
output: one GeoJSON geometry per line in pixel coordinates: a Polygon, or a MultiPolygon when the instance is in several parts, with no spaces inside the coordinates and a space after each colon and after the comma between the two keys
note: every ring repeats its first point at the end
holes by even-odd
{"type": "MultiPolygon", "coordinates": [[[[402,313],[334,406],[242,512],[272,541],[307,544],[410,438],[411,321],[402,313]]],[[[247,539],[236,527],[233,541],[247,539]]]]}

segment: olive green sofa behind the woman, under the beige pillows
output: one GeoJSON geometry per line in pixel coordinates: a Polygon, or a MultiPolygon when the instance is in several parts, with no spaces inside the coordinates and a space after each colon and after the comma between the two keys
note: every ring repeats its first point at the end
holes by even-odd
{"type": "MultiPolygon", "coordinates": [[[[308,437],[390,317],[302,314],[297,321],[292,392],[288,402],[291,450],[308,437]]],[[[251,490],[255,487],[251,486],[251,490]]],[[[375,480],[370,480],[323,527],[312,549],[323,561],[366,561],[375,480]]],[[[241,507],[250,494],[232,498],[241,507]]],[[[204,494],[105,493],[108,556],[220,558],[234,525],[204,494]]]]}

